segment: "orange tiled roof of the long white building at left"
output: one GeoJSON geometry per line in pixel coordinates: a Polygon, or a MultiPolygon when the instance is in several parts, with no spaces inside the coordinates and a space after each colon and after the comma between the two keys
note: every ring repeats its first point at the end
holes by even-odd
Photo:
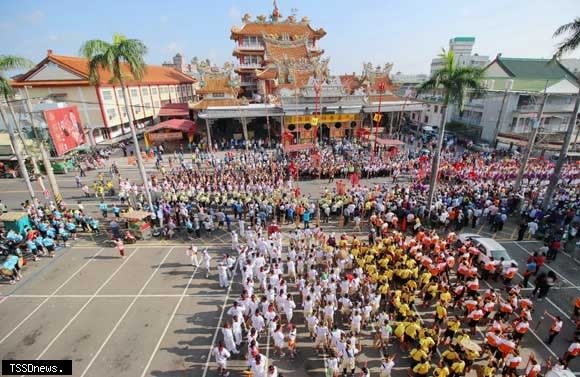
{"type": "MultiPolygon", "coordinates": [[[[53,62],[64,69],[71,71],[81,77],[84,80],[73,81],[76,85],[88,85],[88,77],[89,77],[89,62],[85,58],[81,58],[78,56],[64,56],[64,55],[55,55],[49,52],[48,56],[40,62],[36,67],[28,71],[26,74],[22,75],[15,81],[16,86],[24,85],[24,81],[26,78],[31,76],[33,73],[37,72],[40,68],[42,68],[47,62],[53,62]]],[[[123,63],[121,67],[121,71],[123,76],[125,76],[125,83],[128,85],[135,85],[135,84],[192,84],[195,80],[174,68],[169,67],[162,67],[157,65],[147,65],[145,68],[145,72],[143,74],[143,79],[141,81],[137,81],[133,79],[131,76],[131,72],[129,69],[129,65],[123,63]]],[[[101,85],[108,85],[112,83],[112,74],[108,70],[99,69],[99,84],[101,85]]],[[[70,81],[70,80],[67,80],[70,81]]],[[[28,81],[26,85],[49,85],[55,84],[58,85],[59,80],[53,81],[28,81]]],[[[63,85],[61,83],[61,85],[63,85]]],[[[74,85],[74,84],[73,84],[74,85]]]]}

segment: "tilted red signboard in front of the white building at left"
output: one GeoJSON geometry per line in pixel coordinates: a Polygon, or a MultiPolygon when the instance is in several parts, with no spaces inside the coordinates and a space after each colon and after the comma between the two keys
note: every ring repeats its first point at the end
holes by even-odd
{"type": "Polygon", "coordinates": [[[44,117],[59,156],[85,143],[81,117],[76,106],[45,110],[44,117]]]}

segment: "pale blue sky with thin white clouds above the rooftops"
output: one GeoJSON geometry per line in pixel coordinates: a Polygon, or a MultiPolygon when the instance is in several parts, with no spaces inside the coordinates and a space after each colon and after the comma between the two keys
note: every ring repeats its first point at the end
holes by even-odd
{"type": "MultiPolygon", "coordinates": [[[[393,72],[429,73],[449,39],[476,38],[474,52],[491,58],[548,58],[554,30],[580,16],[579,0],[279,0],[283,17],[307,16],[327,35],[319,42],[332,74],[362,71],[363,62],[394,63],[393,72]]],[[[234,61],[229,39],[241,17],[272,11],[270,0],[19,0],[0,2],[0,54],[39,62],[77,55],[89,39],[113,33],[141,39],[146,61],[161,64],[180,52],[219,65],[234,61]]],[[[580,58],[580,50],[566,56],[580,58]]]]}

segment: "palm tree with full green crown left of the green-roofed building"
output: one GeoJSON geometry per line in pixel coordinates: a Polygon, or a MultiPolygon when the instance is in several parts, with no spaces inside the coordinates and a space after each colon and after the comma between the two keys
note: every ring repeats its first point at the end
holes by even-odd
{"type": "Polygon", "coordinates": [[[443,67],[435,72],[433,76],[423,83],[420,91],[443,90],[443,105],[441,106],[441,124],[439,126],[439,137],[437,139],[437,149],[433,153],[431,166],[431,181],[429,183],[429,198],[427,201],[427,213],[431,215],[431,206],[437,188],[437,172],[439,171],[439,160],[443,138],[445,135],[445,118],[447,107],[456,105],[460,112],[463,111],[463,102],[467,92],[473,95],[481,90],[481,78],[483,70],[475,67],[460,67],[455,62],[453,51],[442,50],[439,57],[443,59],[443,67]]]}

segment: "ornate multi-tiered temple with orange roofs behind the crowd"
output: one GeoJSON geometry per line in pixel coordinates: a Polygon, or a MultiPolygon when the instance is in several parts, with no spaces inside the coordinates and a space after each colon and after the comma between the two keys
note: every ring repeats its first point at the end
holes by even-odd
{"type": "Polygon", "coordinates": [[[274,1],[268,17],[246,14],[242,23],[230,35],[235,67],[198,64],[201,100],[193,109],[210,143],[273,138],[308,149],[319,140],[392,136],[405,120],[421,119],[422,103],[394,95],[391,63],[331,75],[330,58],[318,46],[326,31],[307,17],[283,19],[274,1]]]}

